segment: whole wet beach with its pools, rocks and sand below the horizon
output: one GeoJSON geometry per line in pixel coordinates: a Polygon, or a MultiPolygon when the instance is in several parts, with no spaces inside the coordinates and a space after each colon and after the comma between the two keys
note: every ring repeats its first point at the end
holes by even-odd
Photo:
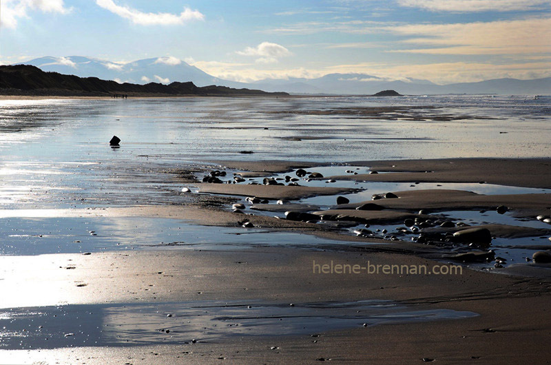
{"type": "Polygon", "coordinates": [[[0,129],[0,363],[549,357],[543,121],[527,146],[453,100],[60,103],[0,129]]]}

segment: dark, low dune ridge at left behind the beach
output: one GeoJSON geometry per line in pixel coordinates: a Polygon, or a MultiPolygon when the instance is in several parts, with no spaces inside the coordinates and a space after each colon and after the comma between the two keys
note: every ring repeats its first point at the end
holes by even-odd
{"type": "Polygon", "coordinates": [[[173,82],[169,85],[147,83],[117,83],[97,77],[82,78],[58,72],[44,72],[31,65],[0,66],[0,94],[8,95],[62,95],[62,96],[242,96],[288,95],[270,94],[260,90],[232,89],[225,86],[197,87],[194,83],[173,82]]]}

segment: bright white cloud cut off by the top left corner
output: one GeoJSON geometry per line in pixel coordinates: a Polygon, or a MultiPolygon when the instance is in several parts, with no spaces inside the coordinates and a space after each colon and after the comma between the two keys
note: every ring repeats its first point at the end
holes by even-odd
{"type": "Polygon", "coordinates": [[[19,18],[27,18],[28,12],[54,12],[67,14],[71,8],[65,8],[63,0],[3,0],[0,12],[0,24],[6,28],[17,28],[19,18]]]}

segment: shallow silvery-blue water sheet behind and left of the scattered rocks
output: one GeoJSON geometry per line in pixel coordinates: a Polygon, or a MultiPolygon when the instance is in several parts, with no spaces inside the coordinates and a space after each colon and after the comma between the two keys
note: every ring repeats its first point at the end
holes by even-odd
{"type": "MultiPolygon", "coordinates": [[[[183,185],[171,173],[216,168],[222,160],[340,166],[548,158],[550,139],[551,96],[538,95],[1,100],[0,254],[174,248],[172,242],[183,243],[178,248],[334,243],[298,233],[240,235],[240,228],[213,230],[182,220],[75,218],[56,211],[185,204],[183,185]],[[110,147],[112,136],[121,138],[120,148],[110,147]]],[[[370,196],[377,192],[375,185],[362,188],[370,196]]],[[[519,192],[484,188],[477,192],[519,192]]]]}

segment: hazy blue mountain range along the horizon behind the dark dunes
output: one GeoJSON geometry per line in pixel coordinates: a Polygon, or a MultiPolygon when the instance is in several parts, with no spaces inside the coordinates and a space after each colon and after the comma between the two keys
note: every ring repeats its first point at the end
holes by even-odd
{"type": "Polygon", "coordinates": [[[191,81],[195,85],[221,85],[234,88],[254,88],[267,92],[293,94],[374,94],[380,90],[397,90],[401,94],[551,94],[551,77],[545,79],[492,79],[477,83],[437,85],[428,80],[405,79],[388,81],[368,74],[327,74],[318,79],[264,79],[239,83],[219,79],[198,67],[174,57],[143,59],[129,63],[114,63],[83,56],[41,57],[24,62],[43,71],[95,76],[118,83],[146,84],[191,81]]]}

